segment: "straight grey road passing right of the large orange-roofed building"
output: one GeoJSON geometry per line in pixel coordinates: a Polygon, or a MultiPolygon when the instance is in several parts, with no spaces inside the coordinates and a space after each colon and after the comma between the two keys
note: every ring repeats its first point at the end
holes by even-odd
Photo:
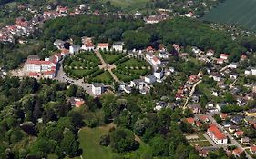
{"type": "Polygon", "coordinates": [[[243,150],[243,151],[245,152],[245,154],[246,154],[246,156],[247,156],[248,159],[253,159],[253,158],[251,157],[251,155],[248,154],[248,153],[245,151],[245,148],[243,148],[243,147],[241,146],[241,144],[239,144],[239,142],[237,142],[237,141],[233,138],[233,136],[232,136],[228,131],[226,131],[220,124],[218,124],[218,123],[215,121],[215,119],[212,117],[212,114],[196,114],[195,116],[201,116],[201,115],[207,116],[212,124],[215,124],[215,125],[222,131],[222,133],[224,133],[226,136],[228,136],[228,137],[230,138],[231,144],[234,144],[235,146],[237,146],[238,148],[240,148],[241,150],[243,150]]]}

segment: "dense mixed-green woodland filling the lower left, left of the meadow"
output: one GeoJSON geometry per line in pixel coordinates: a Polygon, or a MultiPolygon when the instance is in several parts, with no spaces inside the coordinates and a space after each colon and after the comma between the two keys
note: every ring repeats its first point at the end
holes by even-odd
{"type": "Polygon", "coordinates": [[[67,88],[51,80],[0,79],[0,158],[80,155],[77,134],[84,122],[81,112],[67,102],[73,96],[90,101],[75,85],[67,88]]]}

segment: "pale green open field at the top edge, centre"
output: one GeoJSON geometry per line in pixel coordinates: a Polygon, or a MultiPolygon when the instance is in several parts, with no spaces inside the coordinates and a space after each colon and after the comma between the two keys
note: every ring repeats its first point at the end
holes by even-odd
{"type": "Polygon", "coordinates": [[[145,7],[150,0],[101,0],[102,2],[110,1],[112,5],[121,7],[128,11],[136,11],[145,7]]]}

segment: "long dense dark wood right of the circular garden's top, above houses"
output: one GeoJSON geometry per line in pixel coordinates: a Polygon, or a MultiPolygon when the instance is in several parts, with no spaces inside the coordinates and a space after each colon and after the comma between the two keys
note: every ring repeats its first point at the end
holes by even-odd
{"type": "Polygon", "coordinates": [[[158,48],[159,43],[197,46],[201,50],[214,49],[216,56],[220,53],[230,54],[230,61],[238,61],[241,53],[246,51],[245,47],[225,33],[213,30],[198,20],[182,17],[157,25],[145,25],[138,31],[127,31],[124,41],[128,49],[142,49],[148,45],[158,48]]]}

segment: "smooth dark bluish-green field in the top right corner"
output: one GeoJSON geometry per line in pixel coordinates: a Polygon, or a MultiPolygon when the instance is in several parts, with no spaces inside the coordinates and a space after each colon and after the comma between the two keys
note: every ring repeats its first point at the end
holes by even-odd
{"type": "Polygon", "coordinates": [[[256,31],[256,0],[226,0],[210,10],[203,20],[239,25],[256,31]]]}

